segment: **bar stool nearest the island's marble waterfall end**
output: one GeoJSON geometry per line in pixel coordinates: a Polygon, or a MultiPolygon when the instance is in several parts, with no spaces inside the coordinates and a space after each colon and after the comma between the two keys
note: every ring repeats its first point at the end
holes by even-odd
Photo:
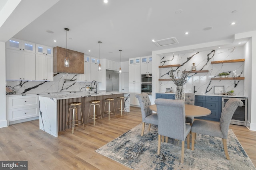
{"type": "Polygon", "coordinates": [[[81,102],[72,102],[68,105],[69,105],[69,109],[68,109],[68,118],[67,118],[66,126],[68,126],[68,125],[72,126],[72,134],[73,134],[74,126],[82,124],[84,127],[83,115],[82,115],[82,111],[81,111],[82,103],[81,102]],[[78,119],[78,109],[80,109],[80,116],[82,119],[78,119]],[[72,120],[68,121],[71,110],[72,110],[72,120]]]}

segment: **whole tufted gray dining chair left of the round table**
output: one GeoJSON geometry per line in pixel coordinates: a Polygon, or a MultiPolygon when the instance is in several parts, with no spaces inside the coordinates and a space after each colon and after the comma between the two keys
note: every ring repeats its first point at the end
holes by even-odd
{"type": "Polygon", "coordinates": [[[148,131],[150,130],[151,124],[158,125],[157,121],[157,114],[153,113],[152,110],[150,110],[149,106],[151,105],[150,99],[148,97],[148,94],[142,93],[142,94],[136,94],[136,98],[138,98],[140,102],[140,109],[142,114],[142,132],[141,136],[144,134],[145,129],[145,123],[149,123],[148,125],[148,131]]]}

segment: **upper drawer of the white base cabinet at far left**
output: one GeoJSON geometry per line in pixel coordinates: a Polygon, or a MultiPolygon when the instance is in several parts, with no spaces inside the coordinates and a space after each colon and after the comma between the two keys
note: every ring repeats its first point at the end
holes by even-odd
{"type": "Polygon", "coordinates": [[[9,98],[9,109],[38,106],[38,96],[16,96],[9,98]]]}

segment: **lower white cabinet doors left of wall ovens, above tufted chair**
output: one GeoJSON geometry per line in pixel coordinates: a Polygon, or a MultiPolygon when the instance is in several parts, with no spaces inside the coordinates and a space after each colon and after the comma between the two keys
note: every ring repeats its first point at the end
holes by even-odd
{"type": "Polygon", "coordinates": [[[141,93],[141,83],[129,82],[129,93],[130,93],[130,104],[139,106],[140,103],[135,95],[141,93]]]}

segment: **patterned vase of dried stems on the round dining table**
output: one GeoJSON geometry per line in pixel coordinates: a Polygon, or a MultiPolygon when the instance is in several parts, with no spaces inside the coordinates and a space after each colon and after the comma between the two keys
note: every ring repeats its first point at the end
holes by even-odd
{"type": "Polygon", "coordinates": [[[170,77],[172,78],[172,81],[177,86],[176,92],[175,92],[175,100],[185,100],[185,93],[184,93],[184,84],[187,82],[188,74],[190,72],[186,72],[186,69],[184,72],[182,72],[181,75],[179,75],[180,70],[177,71],[177,76],[173,73],[173,70],[170,71],[170,77]]]}

